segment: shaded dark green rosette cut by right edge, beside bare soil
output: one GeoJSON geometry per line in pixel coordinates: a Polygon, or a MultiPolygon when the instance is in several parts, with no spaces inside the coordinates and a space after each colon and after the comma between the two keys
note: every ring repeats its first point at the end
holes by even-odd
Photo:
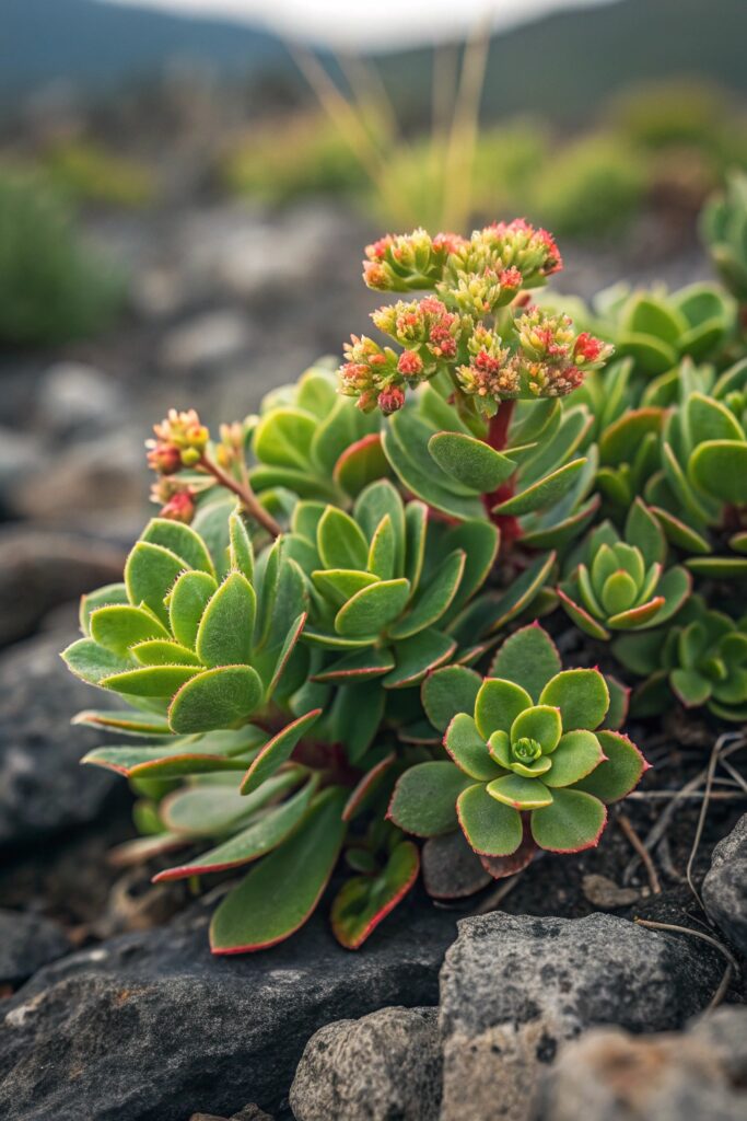
{"type": "Polygon", "coordinates": [[[685,708],[708,708],[722,720],[747,720],[747,617],[711,611],[693,595],[672,627],[625,634],[617,659],[644,678],[634,692],[639,715],[666,710],[672,693],[685,708]]]}

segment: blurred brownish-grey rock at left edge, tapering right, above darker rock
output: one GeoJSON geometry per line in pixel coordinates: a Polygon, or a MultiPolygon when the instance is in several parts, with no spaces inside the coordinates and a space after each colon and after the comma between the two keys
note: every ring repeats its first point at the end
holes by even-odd
{"type": "Polygon", "coordinates": [[[124,555],[73,534],[0,530],[0,646],[27,638],[53,608],[121,580],[124,555]]]}

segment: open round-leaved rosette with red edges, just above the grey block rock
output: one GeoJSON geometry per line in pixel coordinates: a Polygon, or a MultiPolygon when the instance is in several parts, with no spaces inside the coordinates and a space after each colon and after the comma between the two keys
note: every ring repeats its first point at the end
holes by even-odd
{"type": "Polygon", "coordinates": [[[524,823],[540,849],[579,852],[599,841],[606,804],[637,784],[645,762],[624,735],[597,731],[609,693],[596,669],[560,668],[536,624],[507,639],[492,675],[433,675],[431,701],[448,725],[449,758],[418,763],[399,779],[389,817],[417,836],[460,827],[483,856],[510,856],[524,823]],[[501,676],[497,676],[501,675],[501,676]],[[526,815],[526,817],[525,817],[526,815]]]}

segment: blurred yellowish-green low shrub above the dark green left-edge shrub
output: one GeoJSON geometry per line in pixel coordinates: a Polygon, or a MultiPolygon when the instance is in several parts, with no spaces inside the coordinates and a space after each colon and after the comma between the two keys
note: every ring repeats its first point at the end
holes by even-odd
{"type": "Polygon", "coordinates": [[[156,197],[155,177],[144,165],[91,140],[55,143],[43,164],[53,186],[81,202],[138,209],[156,197]]]}

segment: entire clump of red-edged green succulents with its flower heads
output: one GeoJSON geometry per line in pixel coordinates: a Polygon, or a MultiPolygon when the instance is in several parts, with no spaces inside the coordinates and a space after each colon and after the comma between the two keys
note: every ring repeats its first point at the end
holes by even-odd
{"type": "Polygon", "coordinates": [[[611,321],[531,295],[561,263],[523,220],[383,238],[364,277],[393,302],[338,371],[215,438],[194,411],[156,426],[158,517],[65,659],[121,698],[78,717],[119,738],[85,761],[139,795],[120,860],[231,878],[215,953],[289,937],[330,883],[360,947],[420,837],[438,898],[459,846],[499,878],[595,845],[646,768],[631,688],[644,715],[741,719],[744,620],[720,602],[747,559],[738,335],[704,297],[663,372],[645,348],[607,365],[629,343],[611,321]],[[576,666],[539,617],[580,632],[576,666]]]}

